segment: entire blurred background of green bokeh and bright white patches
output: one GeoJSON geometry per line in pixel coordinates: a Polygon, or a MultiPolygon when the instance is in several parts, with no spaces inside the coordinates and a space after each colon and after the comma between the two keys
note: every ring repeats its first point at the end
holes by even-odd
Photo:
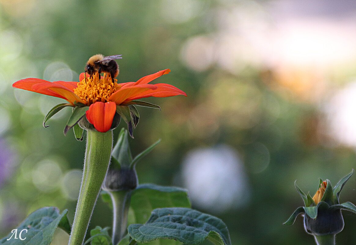
{"type": "MultiPolygon", "coordinates": [[[[119,83],[170,68],[155,82],[188,94],[138,108],[133,154],[162,139],[140,183],[188,188],[232,244],[314,244],[301,217],[282,223],[303,203],[295,179],[313,196],[319,178],[335,185],[356,166],[355,17],[354,1],[336,0],[0,0],[0,237],[43,206],[73,219],[85,148],[63,135],[69,109],[42,127],[61,99],[11,84],[77,81],[103,53],[122,54],[119,83]]],[[[356,203],[355,185],[342,202],[356,203]]],[[[336,239],[350,244],[356,217],[344,218],[336,239]]],[[[95,225],[111,226],[101,200],[95,225]]]]}

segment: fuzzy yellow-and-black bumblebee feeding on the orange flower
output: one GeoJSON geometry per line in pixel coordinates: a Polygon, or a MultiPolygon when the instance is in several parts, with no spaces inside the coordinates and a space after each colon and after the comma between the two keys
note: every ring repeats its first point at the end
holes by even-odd
{"type": "Polygon", "coordinates": [[[122,59],[121,55],[122,54],[117,54],[104,57],[103,54],[95,54],[89,58],[84,71],[87,72],[90,77],[97,72],[99,74],[99,79],[101,72],[109,73],[112,82],[114,82],[114,78],[119,75],[119,66],[115,59],[122,59]]]}

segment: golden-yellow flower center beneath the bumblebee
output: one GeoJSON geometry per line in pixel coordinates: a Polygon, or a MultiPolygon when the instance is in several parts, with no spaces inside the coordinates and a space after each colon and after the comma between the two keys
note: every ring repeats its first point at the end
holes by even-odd
{"type": "Polygon", "coordinates": [[[115,93],[121,85],[117,84],[117,80],[112,82],[111,76],[104,74],[99,79],[99,74],[95,73],[92,77],[87,76],[78,83],[78,87],[74,89],[74,94],[80,99],[87,101],[87,105],[95,102],[107,102],[111,94],[115,93]]]}

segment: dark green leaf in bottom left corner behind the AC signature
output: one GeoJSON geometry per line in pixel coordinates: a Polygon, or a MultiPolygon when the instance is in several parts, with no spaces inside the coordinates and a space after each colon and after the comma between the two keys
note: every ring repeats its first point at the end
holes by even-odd
{"type": "Polygon", "coordinates": [[[36,210],[28,215],[17,227],[17,239],[15,235],[10,233],[5,238],[0,240],[0,244],[6,245],[49,245],[52,242],[54,231],[60,227],[68,232],[70,225],[67,218],[67,210],[62,214],[59,213],[56,207],[45,207],[36,210]],[[21,234],[22,239],[19,239],[19,233],[27,229],[21,234]],[[10,239],[10,240],[7,240],[10,239]]]}

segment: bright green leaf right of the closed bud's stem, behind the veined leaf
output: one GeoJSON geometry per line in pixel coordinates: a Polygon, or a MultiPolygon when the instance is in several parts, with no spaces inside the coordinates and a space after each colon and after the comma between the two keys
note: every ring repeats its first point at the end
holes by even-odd
{"type": "Polygon", "coordinates": [[[130,207],[134,216],[131,220],[143,224],[148,220],[153,209],[190,208],[191,204],[186,189],[157,186],[155,184],[140,184],[131,192],[130,207]]]}

